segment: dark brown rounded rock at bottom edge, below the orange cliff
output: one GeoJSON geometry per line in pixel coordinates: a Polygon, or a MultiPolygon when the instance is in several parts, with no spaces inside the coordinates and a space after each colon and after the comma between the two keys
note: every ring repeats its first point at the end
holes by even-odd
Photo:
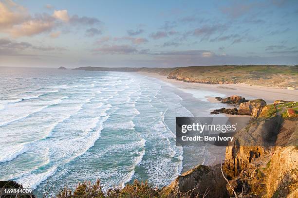
{"type": "Polygon", "coordinates": [[[227,197],[226,181],[223,179],[221,164],[215,166],[198,165],[178,176],[162,190],[166,196],[181,197],[188,194],[191,198],[207,194],[205,198],[227,197]],[[180,194],[181,193],[181,194],[180,194]]]}

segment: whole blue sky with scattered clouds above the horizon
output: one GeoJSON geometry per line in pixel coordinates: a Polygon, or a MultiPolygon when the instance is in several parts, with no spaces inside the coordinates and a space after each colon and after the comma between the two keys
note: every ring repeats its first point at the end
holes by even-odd
{"type": "Polygon", "coordinates": [[[0,0],[0,66],[298,65],[296,0],[0,0]]]}

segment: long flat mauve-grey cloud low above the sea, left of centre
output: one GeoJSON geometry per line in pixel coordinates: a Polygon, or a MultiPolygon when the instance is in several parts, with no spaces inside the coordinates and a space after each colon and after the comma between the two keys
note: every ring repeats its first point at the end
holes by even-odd
{"type": "Polygon", "coordinates": [[[100,54],[136,54],[138,50],[129,45],[104,45],[103,47],[92,50],[100,54]]]}

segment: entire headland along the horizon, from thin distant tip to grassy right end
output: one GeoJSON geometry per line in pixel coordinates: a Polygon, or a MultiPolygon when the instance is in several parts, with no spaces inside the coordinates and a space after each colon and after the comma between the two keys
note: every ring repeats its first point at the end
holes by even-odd
{"type": "Polygon", "coordinates": [[[109,72],[148,72],[169,79],[201,84],[238,84],[298,89],[298,66],[287,65],[221,65],[176,68],[106,68],[79,67],[75,70],[109,72]]]}

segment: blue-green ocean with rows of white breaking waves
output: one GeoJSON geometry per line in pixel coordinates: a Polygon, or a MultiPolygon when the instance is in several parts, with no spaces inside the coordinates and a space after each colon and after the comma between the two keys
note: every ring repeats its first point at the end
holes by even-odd
{"type": "Polygon", "coordinates": [[[175,146],[175,118],[209,115],[220,105],[204,96],[217,93],[135,72],[8,67],[0,93],[0,180],[37,196],[96,179],[105,189],[135,179],[161,187],[214,160],[205,147],[175,146]]]}

